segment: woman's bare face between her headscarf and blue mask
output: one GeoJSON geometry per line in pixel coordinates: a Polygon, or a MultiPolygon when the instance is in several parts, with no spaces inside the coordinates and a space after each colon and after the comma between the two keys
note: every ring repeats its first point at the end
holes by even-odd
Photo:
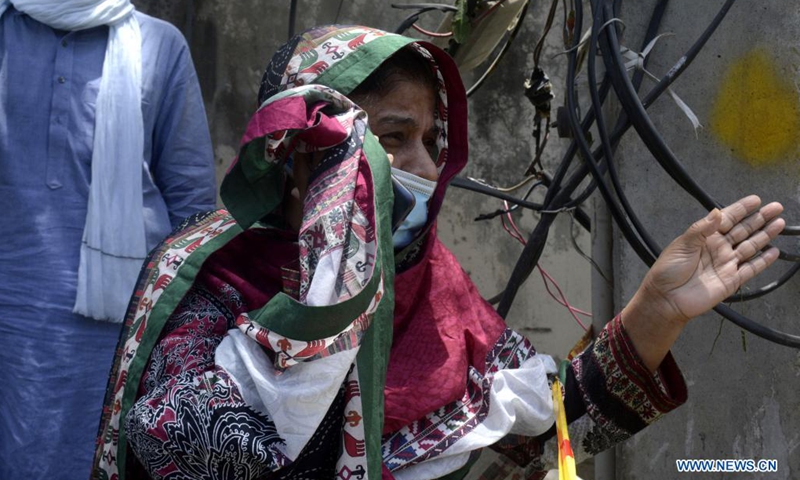
{"type": "Polygon", "coordinates": [[[439,178],[433,89],[419,82],[398,80],[388,94],[361,107],[367,112],[372,133],[386,153],[394,157],[394,168],[426,180],[439,178]]]}

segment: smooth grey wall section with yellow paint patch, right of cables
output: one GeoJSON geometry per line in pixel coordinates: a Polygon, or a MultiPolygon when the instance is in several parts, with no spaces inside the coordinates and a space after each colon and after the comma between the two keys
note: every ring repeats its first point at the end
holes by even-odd
{"type": "MultiPolygon", "coordinates": [[[[665,74],[722,3],[671,2],[661,31],[674,36],[659,41],[649,70],[657,76],[665,74]]],[[[641,43],[654,4],[625,2],[624,43],[632,47],[641,43]]],[[[781,201],[789,224],[800,222],[798,38],[800,11],[793,2],[736,2],[674,85],[704,128],[695,136],[690,122],[666,95],[649,110],[677,157],[715,198],[729,203],[756,193],[765,201],[781,201]]],[[[635,136],[623,141],[618,161],[631,203],[662,245],[704,214],[635,136]]],[[[645,268],[621,237],[616,240],[621,300],[633,293],[645,268]]],[[[791,237],[777,244],[798,250],[791,237]]],[[[779,262],[774,270],[788,267],[779,262]]],[[[766,298],[733,308],[769,326],[800,334],[796,321],[799,285],[791,281],[766,298]]],[[[689,385],[689,401],[657,428],[620,448],[623,460],[618,463],[617,478],[695,478],[676,472],[678,458],[778,460],[778,473],[705,474],[703,478],[800,477],[800,353],[743,334],[720,319],[716,314],[705,315],[684,331],[673,353],[689,385]]]]}

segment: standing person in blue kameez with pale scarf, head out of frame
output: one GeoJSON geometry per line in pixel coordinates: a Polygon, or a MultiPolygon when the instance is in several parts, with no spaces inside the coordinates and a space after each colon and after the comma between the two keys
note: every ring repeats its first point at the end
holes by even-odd
{"type": "Polygon", "coordinates": [[[86,478],[147,251],[214,208],[186,42],[122,0],[0,0],[0,479],[86,478]]]}

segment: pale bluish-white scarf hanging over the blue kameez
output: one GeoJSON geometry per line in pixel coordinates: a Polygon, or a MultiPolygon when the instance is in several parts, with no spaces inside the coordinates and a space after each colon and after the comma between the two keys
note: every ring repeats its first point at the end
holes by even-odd
{"type": "Polygon", "coordinates": [[[129,0],[0,0],[58,30],[109,26],[73,311],[121,322],[147,254],[142,196],[142,34],[129,0]]]}

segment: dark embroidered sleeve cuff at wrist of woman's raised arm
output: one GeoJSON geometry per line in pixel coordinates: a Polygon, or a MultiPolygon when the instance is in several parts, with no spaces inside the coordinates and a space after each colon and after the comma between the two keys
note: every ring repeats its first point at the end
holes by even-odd
{"type": "Polygon", "coordinates": [[[633,348],[620,316],[572,361],[572,367],[587,413],[605,430],[602,434],[611,444],[686,401],[686,384],[672,354],[651,374],[633,348]]]}

